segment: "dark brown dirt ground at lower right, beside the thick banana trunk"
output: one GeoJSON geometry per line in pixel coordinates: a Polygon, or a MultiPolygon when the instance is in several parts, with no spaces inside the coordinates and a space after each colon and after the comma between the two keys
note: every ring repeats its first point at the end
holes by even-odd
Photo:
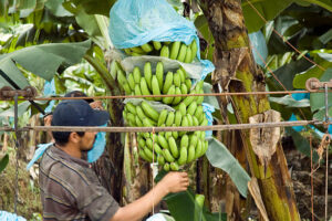
{"type": "MultiPolygon", "coordinates": [[[[313,168],[318,168],[312,176],[313,186],[311,185],[311,160],[297,149],[291,138],[283,140],[284,155],[287,157],[288,167],[293,180],[293,187],[295,198],[298,202],[298,209],[301,219],[312,220],[312,207],[311,207],[311,192],[313,187],[313,213],[314,220],[324,220],[325,217],[325,178],[326,166],[323,161],[319,168],[314,165],[313,168]]],[[[317,147],[318,144],[313,144],[317,147]]],[[[330,148],[331,149],[331,148],[330,148]]],[[[325,159],[325,155],[323,155],[325,159]]],[[[332,217],[332,154],[329,155],[329,168],[328,168],[328,220],[332,217]]]]}

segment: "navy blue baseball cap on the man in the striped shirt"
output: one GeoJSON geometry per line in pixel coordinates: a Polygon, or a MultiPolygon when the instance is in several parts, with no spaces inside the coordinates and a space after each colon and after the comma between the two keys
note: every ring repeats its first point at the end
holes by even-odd
{"type": "Polygon", "coordinates": [[[107,112],[93,109],[83,99],[65,99],[55,107],[52,126],[102,126],[108,119],[107,112]]]}

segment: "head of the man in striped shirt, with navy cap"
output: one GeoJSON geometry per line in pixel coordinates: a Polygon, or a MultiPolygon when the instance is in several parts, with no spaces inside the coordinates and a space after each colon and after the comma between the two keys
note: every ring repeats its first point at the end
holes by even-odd
{"type": "MultiPolygon", "coordinates": [[[[66,99],[61,102],[53,112],[52,126],[101,126],[107,123],[107,112],[93,109],[83,99],[66,99]]],[[[74,143],[81,150],[92,148],[96,133],[86,131],[53,131],[55,144],[65,146],[74,143]]]]}

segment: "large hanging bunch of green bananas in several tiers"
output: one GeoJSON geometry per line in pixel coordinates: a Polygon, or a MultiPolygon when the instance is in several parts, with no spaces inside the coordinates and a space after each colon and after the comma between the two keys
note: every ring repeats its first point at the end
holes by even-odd
{"type": "MultiPolygon", "coordinates": [[[[186,45],[183,42],[151,41],[144,45],[125,49],[128,55],[158,55],[191,63],[197,54],[196,41],[186,45]]],[[[164,60],[163,60],[164,62],[164,60]]],[[[206,126],[208,120],[201,103],[204,96],[175,96],[203,94],[203,81],[196,85],[183,67],[165,70],[163,62],[146,62],[144,69],[134,67],[125,74],[118,63],[112,63],[114,75],[126,94],[134,95],[173,95],[169,97],[146,97],[137,105],[126,103],[123,117],[127,125],[138,127],[187,127],[206,126]],[[175,110],[156,110],[152,103],[156,101],[169,105],[175,110]]],[[[208,141],[205,131],[159,131],[137,133],[139,157],[148,162],[157,161],[162,169],[179,170],[205,155],[208,141]]]]}

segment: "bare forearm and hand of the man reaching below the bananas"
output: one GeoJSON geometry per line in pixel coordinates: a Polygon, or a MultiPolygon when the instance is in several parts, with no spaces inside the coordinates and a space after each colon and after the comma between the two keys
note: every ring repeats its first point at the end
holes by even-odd
{"type": "Polygon", "coordinates": [[[138,200],[120,208],[110,221],[141,220],[154,204],[157,204],[166,194],[187,190],[189,186],[186,172],[168,172],[154,189],[138,200]]]}

